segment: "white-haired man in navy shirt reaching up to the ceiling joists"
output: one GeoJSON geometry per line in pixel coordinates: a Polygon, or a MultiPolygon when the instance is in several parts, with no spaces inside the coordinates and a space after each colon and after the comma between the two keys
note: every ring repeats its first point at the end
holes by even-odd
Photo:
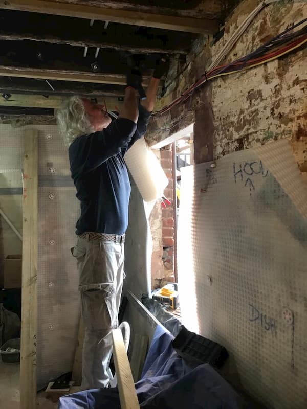
{"type": "Polygon", "coordinates": [[[138,106],[140,77],[127,76],[119,118],[112,121],[103,105],[72,97],[57,112],[60,130],[70,144],[71,173],[81,202],[76,224],[81,314],[85,327],[82,388],[109,383],[111,331],[118,326],[124,276],[124,240],[128,225],[130,182],[125,152],[147,129],[164,64],[157,66],[138,106]]]}

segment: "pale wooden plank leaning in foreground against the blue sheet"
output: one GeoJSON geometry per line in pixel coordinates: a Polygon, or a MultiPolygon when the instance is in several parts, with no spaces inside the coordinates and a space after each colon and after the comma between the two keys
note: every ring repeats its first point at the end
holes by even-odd
{"type": "Polygon", "coordinates": [[[112,331],[113,357],[122,409],[139,409],[139,401],[120,329],[112,331]]]}

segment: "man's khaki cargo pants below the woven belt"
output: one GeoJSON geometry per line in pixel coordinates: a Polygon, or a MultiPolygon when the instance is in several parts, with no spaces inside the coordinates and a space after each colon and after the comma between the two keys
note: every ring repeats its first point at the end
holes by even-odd
{"type": "Polygon", "coordinates": [[[112,355],[112,329],[118,326],[118,311],[124,278],[124,244],[78,238],[71,249],[77,259],[81,315],[85,327],[82,389],[104,388],[112,355]]]}

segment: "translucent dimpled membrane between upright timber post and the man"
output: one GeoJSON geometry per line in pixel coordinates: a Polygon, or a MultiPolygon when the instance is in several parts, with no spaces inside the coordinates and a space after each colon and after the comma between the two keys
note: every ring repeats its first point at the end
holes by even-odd
{"type": "MultiPolygon", "coordinates": [[[[38,128],[39,129],[39,128],[38,128]]],[[[75,224],[79,202],[68,149],[56,126],[39,129],[37,385],[70,372],[78,338],[80,301],[75,224]]]]}

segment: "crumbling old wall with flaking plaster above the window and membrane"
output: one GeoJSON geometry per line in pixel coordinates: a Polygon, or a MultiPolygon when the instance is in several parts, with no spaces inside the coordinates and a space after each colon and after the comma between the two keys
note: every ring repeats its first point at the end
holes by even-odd
{"type": "MultiPolygon", "coordinates": [[[[171,66],[166,84],[170,84],[159,106],[178,97],[205,71],[218,51],[258,4],[245,0],[225,24],[224,36],[214,46],[208,36],[201,37],[188,55],[187,64],[171,66]],[[183,71],[181,75],[179,73],[183,71]],[[178,76],[176,81],[171,77],[178,76]]],[[[224,62],[250,53],[287,27],[307,16],[305,2],[280,1],[265,7],[235,44],[224,62]]],[[[306,137],[306,48],[253,69],[214,79],[195,92],[184,106],[156,116],[155,127],[172,129],[150,132],[149,144],[165,139],[195,122],[195,160],[206,162],[228,153],[290,138],[301,172],[307,171],[306,137]]]]}

